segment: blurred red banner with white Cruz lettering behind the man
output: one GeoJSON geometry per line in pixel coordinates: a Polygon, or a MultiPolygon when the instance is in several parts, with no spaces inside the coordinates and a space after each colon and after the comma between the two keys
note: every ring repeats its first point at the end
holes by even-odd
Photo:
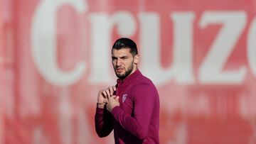
{"type": "Polygon", "coordinates": [[[0,143],[114,143],[94,128],[119,37],[161,100],[160,142],[256,143],[255,0],[0,0],[0,143]]]}

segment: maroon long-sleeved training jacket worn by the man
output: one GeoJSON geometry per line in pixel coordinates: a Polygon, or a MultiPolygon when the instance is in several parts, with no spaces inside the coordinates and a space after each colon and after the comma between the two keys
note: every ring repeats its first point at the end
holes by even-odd
{"type": "Polygon", "coordinates": [[[159,94],[139,70],[117,79],[120,106],[96,109],[95,128],[101,138],[114,129],[115,143],[159,143],[159,94]]]}

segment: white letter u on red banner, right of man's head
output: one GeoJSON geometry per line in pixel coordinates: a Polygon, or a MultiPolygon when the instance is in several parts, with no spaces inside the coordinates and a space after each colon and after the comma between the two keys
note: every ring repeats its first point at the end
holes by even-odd
{"type": "Polygon", "coordinates": [[[164,70],[161,67],[160,24],[156,13],[140,13],[140,43],[142,47],[142,71],[156,84],[166,84],[171,78],[180,84],[194,82],[193,77],[193,20],[192,12],[172,13],[174,21],[174,60],[172,67],[164,70]],[[150,31],[149,31],[150,30],[150,31]],[[161,77],[159,77],[161,76],[161,77]]]}

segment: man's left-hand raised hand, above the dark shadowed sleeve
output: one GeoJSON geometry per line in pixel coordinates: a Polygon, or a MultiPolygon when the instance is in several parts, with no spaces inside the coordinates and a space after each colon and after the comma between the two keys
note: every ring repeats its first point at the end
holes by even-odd
{"type": "Polygon", "coordinates": [[[117,88],[114,86],[100,90],[97,96],[97,107],[104,109],[105,104],[107,104],[107,97],[112,96],[116,90],[117,88]]]}

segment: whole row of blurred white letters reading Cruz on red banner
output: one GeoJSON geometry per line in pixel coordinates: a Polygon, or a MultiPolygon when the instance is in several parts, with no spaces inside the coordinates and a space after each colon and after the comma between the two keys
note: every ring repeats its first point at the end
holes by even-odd
{"type": "MultiPolygon", "coordinates": [[[[78,62],[71,72],[58,69],[55,45],[55,14],[61,4],[73,4],[80,13],[85,11],[82,0],[71,3],[68,0],[56,0],[54,5],[45,0],[38,6],[33,17],[31,43],[33,57],[38,71],[43,77],[60,86],[77,82],[86,70],[84,62],[78,62]],[[50,6],[48,6],[50,5],[50,6]],[[50,23],[46,25],[45,22],[50,23]]],[[[88,78],[91,84],[109,84],[112,82],[110,68],[110,48],[112,30],[117,27],[120,36],[133,36],[139,30],[139,48],[142,50],[142,71],[157,85],[174,80],[178,84],[196,82],[193,69],[193,23],[194,12],[173,12],[170,14],[173,28],[173,61],[168,68],[161,67],[161,33],[158,13],[143,12],[138,14],[139,28],[129,11],[117,11],[112,16],[107,13],[90,13],[91,71],[88,78]],[[150,30],[150,31],[149,31],[150,30]],[[145,56],[144,56],[145,55],[145,56]],[[161,77],[159,77],[161,75],[161,77]]],[[[244,65],[238,70],[223,70],[235,48],[240,35],[245,29],[247,17],[245,11],[206,11],[199,20],[199,27],[223,25],[208,53],[198,69],[198,82],[201,84],[241,84],[247,69],[244,65]]],[[[252,72],[256,75],[254,39],[256,22],[250,27],[247,55],[252,72]]]]}

